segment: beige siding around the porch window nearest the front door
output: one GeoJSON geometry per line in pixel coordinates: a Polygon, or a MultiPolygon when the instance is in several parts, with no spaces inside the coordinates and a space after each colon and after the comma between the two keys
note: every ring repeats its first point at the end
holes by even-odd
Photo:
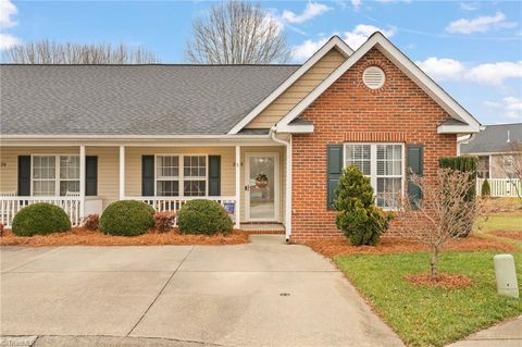
{"type": "Polygon", "coordinates": [[[126,147],[125,195],[141,196],[141,157],[154,154],[221,156],[221,195],[235,196],[234,147],[126,147]]]}

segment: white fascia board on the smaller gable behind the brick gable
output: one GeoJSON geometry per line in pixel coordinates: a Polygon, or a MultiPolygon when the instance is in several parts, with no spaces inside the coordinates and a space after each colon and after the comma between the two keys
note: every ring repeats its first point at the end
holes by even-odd
{"type": "Polygon", "coordinates": [[[323,47],[321,47],[304,64],[302,64],[295,73],[291,74],[277,89],[272,91],[261,103],[250,111],[239,123],[237,123],[228,134],[237,134],[248,125],[256,116],[266,109],[275,99],[277,99],[286,89],[288,89],[297,79],[299,79],[307,71],[309,71],[318,61],[320,61],[327,52],[336,47],[346,58],[353,53],[353,50],[346,45],[338,36],[333,36],[323,47]]]}

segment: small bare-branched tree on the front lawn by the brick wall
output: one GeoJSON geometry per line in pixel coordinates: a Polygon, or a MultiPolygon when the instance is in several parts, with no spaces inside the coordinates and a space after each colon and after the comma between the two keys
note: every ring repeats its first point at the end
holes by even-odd
{"type": "Polygon", "coordinates": [[[475,184],[470,172],[439,169],[435,178],[413,175],[411,182],[422,191],[422,201],[399,197],[397,221],[408,236],[425,244],[432,252],[431,275],[438,280],[438,257],[451,238],[468,233],[477,216],[476,199],[468,193],[475,184]]]}

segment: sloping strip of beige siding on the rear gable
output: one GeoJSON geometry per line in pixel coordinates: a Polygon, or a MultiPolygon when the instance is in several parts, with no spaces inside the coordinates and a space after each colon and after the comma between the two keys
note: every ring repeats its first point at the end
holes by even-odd
{"type": "Polygon", "coordinates": [[[285,92],[253,119],[246,128],[270,128],[304,99],[321,82],[336,70],[346,58],[335,48],[327,52],[285,92]]]}

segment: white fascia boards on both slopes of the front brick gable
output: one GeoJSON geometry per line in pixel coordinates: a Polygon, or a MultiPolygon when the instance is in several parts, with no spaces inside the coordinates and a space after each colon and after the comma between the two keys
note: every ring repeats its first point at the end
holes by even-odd
{"type": "Polygon", "coordinates": [[[353,52],[336,71],[301,100],[279,123],[289,124],[302,113],[316,98],[319,98],[332,84],[353,66],[370,49],[376,47],[386,58],[393,61],[405,74],[407,74],[419,87],[428,94],[449,115],[458,121],[469,124],[465,133],[477,133],[481,124],[468,111],[465,111],[453,98],[430,78],[419,66],[384,37],[381,33],[373,34],[358,50],[353,52]]]}

